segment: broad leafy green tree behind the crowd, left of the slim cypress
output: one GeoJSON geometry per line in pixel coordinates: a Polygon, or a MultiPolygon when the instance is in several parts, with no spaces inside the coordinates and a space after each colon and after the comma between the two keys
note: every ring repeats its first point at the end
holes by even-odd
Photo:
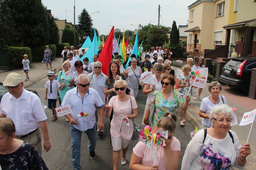
{"type": "MultiPolygon", "coordinates": [[[[139,30],[138,39],[140,42],[143,41],[143,44],[151,46],[163,46],[164,43],[168,42],[167,33],[169,32],[170,27],[148,24],[142,26],[142,29],[139,30]]],[[[134,42],[135,34],[131,37],[130,42],[134,42]]],[[[140,44],[139,42],[139,44],[140,44]]]]}

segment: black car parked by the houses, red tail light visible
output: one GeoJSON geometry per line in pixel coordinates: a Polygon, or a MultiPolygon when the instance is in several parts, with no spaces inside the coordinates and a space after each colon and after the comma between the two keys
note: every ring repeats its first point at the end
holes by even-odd
{"type": "Polygon", "coordinates": [[[238,57],[224,65],[219,82],[230,88],[240,89],[249,93],[252,68],[256,68],[256,57],[238,57]]]}

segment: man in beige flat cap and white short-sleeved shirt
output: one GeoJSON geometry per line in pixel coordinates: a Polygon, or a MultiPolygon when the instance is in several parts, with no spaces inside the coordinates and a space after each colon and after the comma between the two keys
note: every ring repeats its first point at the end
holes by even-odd
{"type": "Polygon", "coordinates": [[[42,154],[41,132],[44,137],[44,149],[48,152],[51,149],[51,142],[46,124],[46,115],[42,108],[40,98],[23,88],[22,77],[17,73],[10,73],[3,82],[8,89],[1,100],[0,118],[10,118],[16,127],[17,139],[24,140],[31,144],[42,154]]]}

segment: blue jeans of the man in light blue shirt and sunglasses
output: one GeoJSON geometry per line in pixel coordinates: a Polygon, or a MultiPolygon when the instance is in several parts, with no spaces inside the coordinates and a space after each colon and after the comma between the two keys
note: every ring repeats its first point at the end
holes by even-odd
{"type": "MultiPolygon", "coordinates": [[[[76,129],[74,126],[70,125],[70,133],[71,133],[71,150],[72,150],[72,164],[75,170],[81,169],[80,164],[80,150],[81,150],[81,136],[82,131],[76,129]]],[[[96,147],[97,140],[97,129],[96,124],[94,124],[93,128],[87,129],[85,131],[86,135],[89,139],[88,151],[92,152],[96,147]]]]}

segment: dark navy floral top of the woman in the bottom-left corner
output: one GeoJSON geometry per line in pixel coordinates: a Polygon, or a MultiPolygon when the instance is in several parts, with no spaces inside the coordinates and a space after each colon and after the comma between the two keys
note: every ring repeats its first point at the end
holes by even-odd
{"type": "Polygon", "coordinates": [[[1,168],[5,170],[47,170],[47,166],[40,154],[30,144],[23,142],[15,152],[1,155],[1,168]]]}

